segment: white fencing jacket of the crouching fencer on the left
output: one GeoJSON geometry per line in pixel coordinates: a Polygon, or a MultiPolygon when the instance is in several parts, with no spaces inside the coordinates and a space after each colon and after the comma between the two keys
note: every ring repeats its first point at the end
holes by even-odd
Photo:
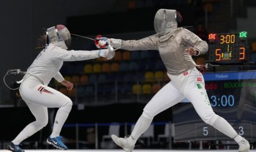
{"type": "MultiPolygon", "coordinates": [[[[99,50],[65,50],[53,44],[43,49],[34,62],[27,69],[27,74],[37,77],[48,85],[52,78],[62,82],[64,78],[60,74],[63,61],[90,60],[99,57],[99,50]]],[[[27,75],[25,76],[25,78],[27,75]]]]}

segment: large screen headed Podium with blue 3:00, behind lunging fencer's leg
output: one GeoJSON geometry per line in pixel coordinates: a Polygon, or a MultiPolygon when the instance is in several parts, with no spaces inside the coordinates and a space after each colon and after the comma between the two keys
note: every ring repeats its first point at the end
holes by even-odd
{"type": "MultiPolygon", "coordinates": [[[[256,140],[256,71],[204,74],[213,111],[224,117],[238,134],[256,140]]],[[[173,107],[174,142],[230,140],[204,123],[190,102],[173,107]]]]}

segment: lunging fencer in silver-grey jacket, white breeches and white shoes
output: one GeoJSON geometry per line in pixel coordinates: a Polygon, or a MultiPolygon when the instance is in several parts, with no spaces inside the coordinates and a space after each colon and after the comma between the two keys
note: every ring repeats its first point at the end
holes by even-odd
{"type": "Polygon", "coordinates": [[[240,146],[239,151],[249,151],[249,142],[236,133],[225,119],[213,112],[205,90],[204,77],[197,71],[191,58],[191,55],[207,52],[208,44],[189,30],[177,28],[177,21],[182,21],[179,12],[160,9],[154,19],[157,35],[137,41],[110,39],[113,47],[124,50],[158,50],[171,79],[144,107],[130,137],[112,135],[113,141],[127,152],[133,151],[138,137],[148,129],[154,116],[188,98],[205,123],[234,139],[240,146]]]}

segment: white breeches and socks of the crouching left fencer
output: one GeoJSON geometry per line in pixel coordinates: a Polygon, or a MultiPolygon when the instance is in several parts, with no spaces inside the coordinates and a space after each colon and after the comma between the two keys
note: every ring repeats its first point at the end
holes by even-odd
{"type": "Polygon", "coordinates": [[[72,108],[72,101],[49,86],[43,85],[38,78],[30,75],[26,77],[20,86],[21,98],[26,102],[35,117],[35,122],[27,125],[23,131],[12,141],[15,145],[20,144],[27,137],[41,130],[48,123],[48,109],[59,108],[57,111],[51,137],[59,136],[72,108]]]}

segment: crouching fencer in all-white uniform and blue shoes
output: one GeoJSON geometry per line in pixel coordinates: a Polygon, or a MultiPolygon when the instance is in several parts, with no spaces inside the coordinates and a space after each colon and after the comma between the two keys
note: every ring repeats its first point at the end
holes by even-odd
{"type": "Polygon", "coordinates": [[[47,142],[59,149],[67,149],[60,138],[60,131],[72,108],[72,101],[61,92],[48,86],[52,78],[65,85],[68,90],[73,88],[73,83],[66,81],[60,74],[63,61],[81,61],[94,58],[107,60],[115,55],[113,47],[101,50],[66,50],[71,43],[68,29],[63,25],[51,27],[46,32],[49,44],[41,50],[37,58],[27,69],[23,82],[20,85],[20,94],[26,102],[35,121],[27,125],[18,136],[12,140],[7,149],[10,151],[24,151],[18,145],[27,137],[41,130],[48,123],[48,108],[59,108],[55,116],[51,136],[47,142]]]}

